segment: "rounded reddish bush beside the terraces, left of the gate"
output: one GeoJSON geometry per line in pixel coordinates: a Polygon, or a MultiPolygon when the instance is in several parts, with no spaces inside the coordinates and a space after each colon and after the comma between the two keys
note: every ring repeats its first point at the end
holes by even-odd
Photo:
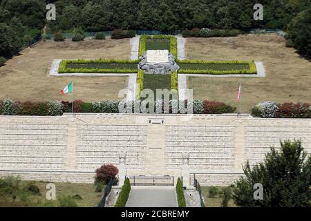
{"type": "Polygon", "coordinates": [[[95,173],[95,183],[108,184],[111,179],[115,179],[115,176],[117,175],[117,173],[119,173],[119,170],[116,166],[113,166],[112,164],[106,164],[100,166],[100,168],[97,169],[95,173]]]}

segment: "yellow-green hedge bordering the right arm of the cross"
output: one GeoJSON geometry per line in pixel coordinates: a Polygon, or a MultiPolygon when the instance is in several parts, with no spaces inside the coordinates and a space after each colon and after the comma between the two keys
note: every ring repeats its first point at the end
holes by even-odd
{"type": "Polygon", "coordinates": [[[178,73],[206,74],[206,75],[256,75],[257,69],[254,61],[200,61],[200,60],[178,60],[179,64],[247,64],[249,69],[243,70],[200,70],[180,68],[178,73]]]}

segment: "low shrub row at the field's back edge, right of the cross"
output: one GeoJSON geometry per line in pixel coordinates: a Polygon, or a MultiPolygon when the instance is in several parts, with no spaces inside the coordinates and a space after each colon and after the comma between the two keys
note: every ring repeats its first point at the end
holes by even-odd
{"type": "Polygon", "coordinates": [[[184,30],[182,37],[236,37],[240,35],[239,30],[223,30],[223,29],[209,29],[209,28],[193,28],[191,30],[184,30]]]}

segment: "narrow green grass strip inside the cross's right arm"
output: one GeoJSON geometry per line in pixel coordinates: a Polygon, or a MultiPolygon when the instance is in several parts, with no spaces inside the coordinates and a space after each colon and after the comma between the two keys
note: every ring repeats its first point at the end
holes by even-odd
{"type": "Polygon", "coordinates": [[[182,64],[178,63],[182,69],[192,70],[245,70],[249,69],[248,64],[182,64]]]}

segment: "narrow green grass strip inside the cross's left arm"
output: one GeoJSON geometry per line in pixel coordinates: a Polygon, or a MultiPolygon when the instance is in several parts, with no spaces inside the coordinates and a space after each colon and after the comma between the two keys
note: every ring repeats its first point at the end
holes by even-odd
{"type": "Polygon", "coordinates": [[[138,69],[138,64],[107,63],[107,64],[67,64],[67,68],[100,68],[100,69],[138,69]]]}

